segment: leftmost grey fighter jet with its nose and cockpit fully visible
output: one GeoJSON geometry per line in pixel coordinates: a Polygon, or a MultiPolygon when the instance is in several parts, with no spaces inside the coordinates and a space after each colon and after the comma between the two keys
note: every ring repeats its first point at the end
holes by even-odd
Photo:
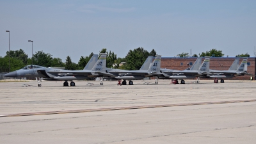
{"type": "MultiPolygon", "coordinates": [[[[92,58],[83,70],[61,70],[58,68],[28,65],[24,68],[21,68],[20,70],[5,74],[4,77],[42,77],[42,79],[47,81],[65,81],[63,86],[68,86],[67,81],[71,81],[70,86],[75,86],[73,80],[97,77],[99,76],[97,72],[106,69],[106,54],[101,54],[99,60],[97,60],[97,58],[98,55],[93,54],[92,58]],[[81,73],[77,74],[77,72],[81,73]]],[[[100,84],[102,85],[103,83],[100,84]]],[[[38,86],[42,86],[42,84],[39,83],[38,86]]]]}

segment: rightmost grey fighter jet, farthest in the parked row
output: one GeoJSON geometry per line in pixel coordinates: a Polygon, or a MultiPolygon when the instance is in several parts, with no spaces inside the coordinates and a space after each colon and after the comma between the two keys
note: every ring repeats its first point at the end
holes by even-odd
{"type": "MultiPolygon", "coordinates": [[[[224,83],[223,78],[232,78],[235,76],[244,76],[247,73],[247,58],[243,58],[243,61],[237,67],[237,61],[239,63],[239,58],[237,58],[228,70],[211,70],[211,78],[221,78],[221,83],[224,83]],[[235,69],[236,68],[236,69],[235,69]]],[[[248,74],[250,75],[250,74],[248,74]]]]}

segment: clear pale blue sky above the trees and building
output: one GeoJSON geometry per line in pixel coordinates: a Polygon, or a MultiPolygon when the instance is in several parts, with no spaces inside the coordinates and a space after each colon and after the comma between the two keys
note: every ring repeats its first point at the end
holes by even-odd
{"type": "Polygon", "coordinates": [[[130,49],[162,56],[211,49],[225,56],[256,47],[256,1],[0,1],[0,56],[23,49],[77,63],[102,48],[124,58],[130,49]]]}

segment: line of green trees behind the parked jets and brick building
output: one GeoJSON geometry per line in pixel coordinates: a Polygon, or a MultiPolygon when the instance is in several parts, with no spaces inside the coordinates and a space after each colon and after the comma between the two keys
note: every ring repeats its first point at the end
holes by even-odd
{"type": "MultiPolygon", "coordinates": [[[[117,58],[115,52],[107,51],[106,48],[103,48],[100,53],[107,54],[107,67],[108,68],[119,68],[125,70],[138,70],[141,65],[143,65],[144,61],[147,59],[147,56],[156,56],[157,52],[152,49],[152,51],[148,52],[143,47],[138,47],[137,49],[129,50],[125,58],[117,58]],[[119,63],[124,63],[124,65],[119,66],[119,63]]],[[[200,57],[205,56],[214,56],[214,57],[222,57],[224,54],[222,51],[217,49],[211,49],[210,51],[202,52],[198,54],[200,57]]],[[[193,57],[198,57],[197,54],[193,54],[193,57]]],[[[85,65],[88,63],[90,58],[92,58],[93,52],[91,52],[88,56],[81,56],[78,63],[72,62],[70,56],[67,56],[65,63],[62,62],[61,58],[52,58],[52,55],[49,53],[45,53],[43,51],[37,51],[33,54],[33,58],[28,58],[28,54],[26,54],[22,49],[16,51],[10,51],[10,71],[19,70],[26,65],[31,65],[33,61],[33,65],[40,65],[43,67],[65,67],[67,70],[83,70],[85,65]],[[33,60],[32,60],[33,59],[33,60]]],[[[181,54],[177,54],[179,57],[189,57],[189,54],[186,52],[182,52],[181,54]]],[[[248,53],[246,54],[237,54],[236,57],[250,57],[248,53]]],[[[9,72],[9,51],[6,52],[6,56],[0,56],[0,72],[9,72]]]]}

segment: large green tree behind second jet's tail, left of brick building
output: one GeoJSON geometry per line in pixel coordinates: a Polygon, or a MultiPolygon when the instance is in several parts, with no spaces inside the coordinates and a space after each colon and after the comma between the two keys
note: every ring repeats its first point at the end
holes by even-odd
{"type": "MultiPolygon", "coordinates": [[[[154,53],[154,56],[155,54],[156,53],[154,53]]],[[[124,68],[127,70],[138,70],[143,65],[148,56],[150,56],[150,53],[143,49],[143,47],[138,47],[133,51],[130,50],[125,56],[126,64],[124,65],[124,68]]]]}

